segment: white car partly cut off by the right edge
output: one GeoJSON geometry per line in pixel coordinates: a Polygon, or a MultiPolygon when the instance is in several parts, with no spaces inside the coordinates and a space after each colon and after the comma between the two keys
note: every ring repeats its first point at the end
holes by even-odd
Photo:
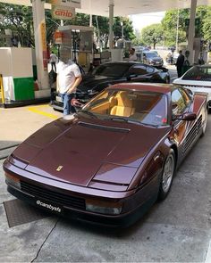
{"type": "Polygon", "coordinates": [[[196,65],[186,71],[173,84],[189,88],[193,93],[207,93],[207,109],[211,112],[211,65],[196,65]]]}

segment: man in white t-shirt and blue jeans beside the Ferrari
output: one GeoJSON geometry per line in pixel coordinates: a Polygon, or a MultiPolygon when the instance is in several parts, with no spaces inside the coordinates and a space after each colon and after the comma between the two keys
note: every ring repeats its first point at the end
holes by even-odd
{"type": "Polygon", "coordinates": [[[57,91],[59,91],[63,101],[63,116],[68,119],[68,115],[75,112],[72,106],[72,98],[75,96],[76,88],[80,85],[81,73],[77,64],[69,60],[59,62],[57,66],[57,91]]]}

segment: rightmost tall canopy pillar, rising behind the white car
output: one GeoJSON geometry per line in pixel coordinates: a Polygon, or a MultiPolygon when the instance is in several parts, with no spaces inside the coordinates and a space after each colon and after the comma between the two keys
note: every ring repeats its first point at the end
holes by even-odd
{"type": "Polygon", "coordinates": [[[193,42],[195,37],[195,17],[196,17],[197,1],[198,0],[191,0],[191,4],[190,4],[190,24],[189,24],[189,35],[188,35],[188,51],[190,52],[188,60],[190,62],[190,65],[193,65],[194,63],[193,42]]]}

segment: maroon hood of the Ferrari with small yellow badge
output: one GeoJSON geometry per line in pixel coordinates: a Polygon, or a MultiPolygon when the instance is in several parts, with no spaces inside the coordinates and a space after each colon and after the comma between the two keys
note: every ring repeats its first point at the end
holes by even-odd
{"type": "MultiPolygon", "coordinates": [[[[27,162],[25,169],[32,173],[82,186],[88,186],[106,163],[130,167],[132,176],[124,179],[129,184],[148,152],[168,131],[169,127],[129,127],[115,121],[78,120],[70,125],[57,120],[30,136],[13,157],[27,162]]],[[[115,173],[112,182],[118,182],[115,173]]]]}

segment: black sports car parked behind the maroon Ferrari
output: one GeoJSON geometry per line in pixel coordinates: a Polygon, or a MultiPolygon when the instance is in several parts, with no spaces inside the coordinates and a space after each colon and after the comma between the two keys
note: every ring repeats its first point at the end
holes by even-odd
{"type": "MultiPolygon", "coordinates": [[[[169,83],[169,72],[165,68],[156,68],[140,62],[106,62],[90,73],[82,76],[76,98],[87,103],[105,87],[122,82],[169,83]]],[[[53,91],[51,105],[55,110],[63,110],[59,94],[53,91]]]]}

